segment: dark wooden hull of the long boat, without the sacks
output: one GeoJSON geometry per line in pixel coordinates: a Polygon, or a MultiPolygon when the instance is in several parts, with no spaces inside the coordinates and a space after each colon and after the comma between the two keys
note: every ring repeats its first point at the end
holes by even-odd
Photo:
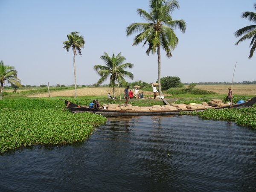
{"type": "MultiPolygon", "coordinates": [[[[256,102],[256,97],[253,97],[252,99],[249,99],[248,101],[241,103],[241,104],[235,104],[232,105],[232,108],[249,108],[256,102]]],[[[172,115],[172,114],[179,114],[180,111],[204,111],[204,109],[185,109],[185,110],[177,110],[177,111],[114,111],[114,110],[105,110],[105,109],[95,109],[90,108],[90,106],[79,106],[76,105],[70,101],[65,100],[66,109],[69,109],[73,113],[83,113],[85,111],[89,113],[96,113],[101,114],[104,116],[140,116],[140,115],[172,115]]],[[[216,107],[211,105],[214,109],[223,109],[223,108],[230,108],[230,106],[224,106],[224,107],[216,107]]]]}

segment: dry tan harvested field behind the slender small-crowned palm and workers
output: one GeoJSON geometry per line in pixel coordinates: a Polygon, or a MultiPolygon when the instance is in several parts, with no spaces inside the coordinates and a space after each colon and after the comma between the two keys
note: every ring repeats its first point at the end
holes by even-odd
{"type": "MultiPolygon", "coordinates": [[[[124,94],[124,88],[120,88],[120,92],[122,97],[124,94]]],[[[76,96],[108,96],[108,93],[110,93],[110,95],[113,96],[113,90],[109,87],[91,87],[91,88],[80,88],[76,90],[76,96]]],[[[115,94],[116,96],[119,96],[118,88],[115,89],[115,94]]],[[[154,94],[151,91],[143,91],[143,94],[154,96],[154,94]]],[[[168,94],[164,94],[164,95],[168,95],[168,94]]],[[[55,91],[50,93],[50,96],[51,97],[74,96],[74,90],[55,91]]],[[[48,93],[31,95],[30,97],[48,97],[48,93]]]]}

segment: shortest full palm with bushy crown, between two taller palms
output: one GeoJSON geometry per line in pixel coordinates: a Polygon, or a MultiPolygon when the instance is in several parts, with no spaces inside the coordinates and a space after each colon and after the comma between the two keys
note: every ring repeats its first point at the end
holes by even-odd
{"type": "Polygon", "coordinates": [[[126,81],[124,77],[128,77],[130,79],[134,78],[134,75],[131,72],[125,71],[126,68],[132,69],[134,64],[122,64],[126,60],[126,58],[121,55],[121,52],[116,55],[116,57],[114,53],[112,57],[110,57],[105,52],[104,55],[102,55],[100,58],[105,61],[106,66],[94,65],[93,69],[96,70],[99,76],[101,76],[97,84],[102,84],[102,82],[107,80],[109,77],[109,87],[113,87],[113,97],[115,97],[116,83],[122,82],[122,84],[125,84],[126,81]]]}

